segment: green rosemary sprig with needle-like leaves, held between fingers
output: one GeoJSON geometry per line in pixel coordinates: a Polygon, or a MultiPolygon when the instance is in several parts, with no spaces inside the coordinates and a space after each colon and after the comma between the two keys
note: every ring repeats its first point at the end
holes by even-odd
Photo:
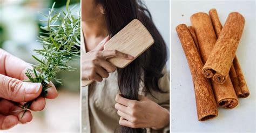
{"type": "MultiPolygon", "coordinates": [[[[73,12],[75,6],[69,9],[69,3],[70,0],[66,2],[66,11],[57,12],[53,3],[48,15],[41,13],[46,20],[40,21],[47,24],[41,26],[46,32],[38,36],[43,48],[35,49],[39,57],[32,55],[39,64],[26,70],[25,75],[29,78],[26,82],[42,84],[43,97],[47,96],[51,80],[61,84],[61,79],[56,78],[60,70],[74,70],[68,63],[80,54],[80,12],[73,12]]],[[[23,115],[31,104],[32,101],[29,101],[22,106],[23,115]]]]}

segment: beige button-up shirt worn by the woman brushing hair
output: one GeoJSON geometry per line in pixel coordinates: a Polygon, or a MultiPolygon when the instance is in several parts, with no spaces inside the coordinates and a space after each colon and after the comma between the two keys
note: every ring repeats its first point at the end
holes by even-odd
{"type": "MultiPolygon", "coordinates": [[[[81,55],[86,53],[83,33],[81,32],[81,55]]],[[[105,39],[104,39],[105,40],[105,39]]],[[[104,40],[101,42],[103,43],[104,40]]],[[[83,57],[83,56],[82,56],[83,57]]],[[[83,60],[83,59],[82,59],[83,60]]],[[[162,107],[170,107],[169,97],[169,72],[163,70],[164,77],[159,80],[161,90],[168,93],[152,91],[152,95],[147,94],[147,98],[156,102],[162,107]]],[[[102,82],[93,82],[89,86],[82,87],[82,132],[114,132],[118,127],[119,115],[114,108],[116,101],[114,98],[119,94],[117,82],[117,71],[109,73],[108,78],[102,82]]],[[[139,94],[145,95],[143,86],[139,89],[139,94]]],[[[164,129],[147,129],[147,132],[167,132],[169,125],[164,129]]]]}

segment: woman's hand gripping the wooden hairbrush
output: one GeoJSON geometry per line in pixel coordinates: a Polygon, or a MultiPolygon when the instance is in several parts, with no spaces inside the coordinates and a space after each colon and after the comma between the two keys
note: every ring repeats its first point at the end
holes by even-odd
{"type": "Polygon", "coordinates": [[[118,50],[104,50],[105,43],[110,38],[107,38],[104,43],[100,43],[95,49],[87,52],[82,57],[82,79],[83,80],[95,80],[102,82],[103,78],[109,77],[110,72],[114,72],[116,67],[107,62],[106,59],[110,57],[125,58],[126,60],[132,60],[131,55],[124,54],[118,50]]]}

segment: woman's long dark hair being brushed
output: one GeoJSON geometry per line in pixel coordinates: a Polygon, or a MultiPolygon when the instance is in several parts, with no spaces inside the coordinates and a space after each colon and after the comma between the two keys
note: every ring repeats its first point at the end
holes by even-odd
{"type": "MultiPolygon", "coordinates": [[[[115,35],[133,19],[140,20],[149,30],[154,44],[127,67],[117,69],[118,86],[124,98],[138,100],[140,82],[146,92],[162,92],[158,80],[163,77],[162,70],[167,61],[167,48],[164,39],[153,24],[151,14],[140,0],[96,0],[105,13],[107,31],[115,35]]],[[[121,127],[120,132],[145,132],[145,129],[121,127]]]]}

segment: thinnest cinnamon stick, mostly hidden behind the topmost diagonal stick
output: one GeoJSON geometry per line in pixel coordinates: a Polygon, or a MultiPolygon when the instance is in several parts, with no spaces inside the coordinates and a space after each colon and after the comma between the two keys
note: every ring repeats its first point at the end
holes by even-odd
{"type": "MultiPolygon", "coordinates": [[[[218,36],[221,32],[221,29],[222,29],[222,25],[221,25],[219,17],[218,17],[218,12],[216,9],[211,9],[209,11],[209,15],[211,17],[212,24],[213,24],[215,33],[218,38],[218,36]]],[[[248,95],[250,95],[250,91],[248,90],[244,75],[242,74],[242,70],[241,70],[240,64],[237,60],[237,56],[234,57],[233,64],[231,65],[229,75],[230,75],[232,84],[234,86],[235,93],[237,94],[238,98],[246,98],[246,97],[248,97],[248,95]],[[237,63],[237,66],[238,66],[236,69],[234,68],[234,65],[233,65],[234,62],[237,63]],[[239,80],[238,80],[238,76],[237,76],[237,71],[240,73],[239,80]],[[241,88],[243,91],[241,90],[241,88]]]]}

